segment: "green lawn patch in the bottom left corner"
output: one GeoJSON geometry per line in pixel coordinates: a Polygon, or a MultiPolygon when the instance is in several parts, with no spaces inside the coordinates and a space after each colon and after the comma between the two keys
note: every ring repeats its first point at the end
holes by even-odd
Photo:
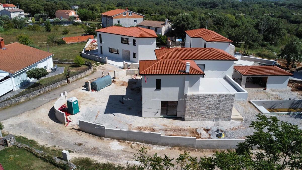
{"type": "Polygon", "coordinates": [[[30,152],[11,146],[0,151],[0,163],[4,169],[60,169],[43,161],[30,152]]]}

